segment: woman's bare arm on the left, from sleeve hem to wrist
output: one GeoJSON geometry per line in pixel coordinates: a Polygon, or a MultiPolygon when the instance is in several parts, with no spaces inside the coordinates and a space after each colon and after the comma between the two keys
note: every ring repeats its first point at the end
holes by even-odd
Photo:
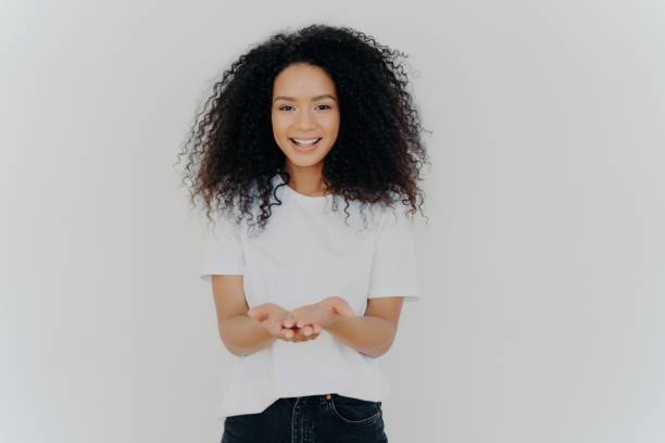
{"type": "Polygon", "coordinates": [[[241,275],[213,275],[212,287],[219,338],[231,354],[243,356],[273,344],[276,339],[247,315],[241,275]]]}

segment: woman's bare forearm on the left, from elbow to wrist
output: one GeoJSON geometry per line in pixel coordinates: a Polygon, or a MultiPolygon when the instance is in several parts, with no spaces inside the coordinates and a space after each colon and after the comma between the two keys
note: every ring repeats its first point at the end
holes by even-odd
{"type": "Polygon", "coordinates": [[[219,337],[226,349],[236,356],[252,354],[276,340],[255,319],[248,315],[225,318],[219,324],[219,337]]]}

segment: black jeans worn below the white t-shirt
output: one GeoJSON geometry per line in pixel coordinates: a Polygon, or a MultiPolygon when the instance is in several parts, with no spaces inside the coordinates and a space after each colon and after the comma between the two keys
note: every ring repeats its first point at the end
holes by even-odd
{"type": "Polygon", "coordinates": [[[339,394],[281,397],[226,417],[222,443],[387,443],[381,402],[339,394]]]}

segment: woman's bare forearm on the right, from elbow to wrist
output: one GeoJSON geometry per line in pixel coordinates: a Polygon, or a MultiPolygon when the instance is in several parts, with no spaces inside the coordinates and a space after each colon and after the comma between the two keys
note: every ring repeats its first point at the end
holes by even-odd
{"type": "Polygon", "coordinates": [[[380,357],[390,349],[394,326],[381,317],[338,317],[326,330],[348,346],[369,357],[380,357]]]}

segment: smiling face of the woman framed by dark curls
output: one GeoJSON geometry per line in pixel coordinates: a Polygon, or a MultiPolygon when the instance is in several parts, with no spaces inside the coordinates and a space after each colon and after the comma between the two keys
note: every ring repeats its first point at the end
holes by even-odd
{"type": "Polygon", "coordinates": [[[272,122],[275,141],[286,155],[287,170],[321,172],[339,134],[332,79],[321,67],[304,63],[285,68],[273,86],[272,122]]]}

